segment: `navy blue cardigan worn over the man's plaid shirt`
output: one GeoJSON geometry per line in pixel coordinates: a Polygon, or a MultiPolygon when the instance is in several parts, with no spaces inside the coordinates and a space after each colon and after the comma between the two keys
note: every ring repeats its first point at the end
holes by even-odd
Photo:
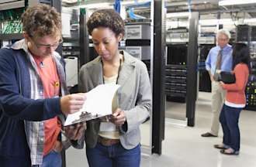
{"type": "Polygon", "coordinates": [[[30,99],[30,78],[22,49],[0,49],[0,164],[30,166],[24,120],[43,121],[61,114],[60,97],[30,99]]]}

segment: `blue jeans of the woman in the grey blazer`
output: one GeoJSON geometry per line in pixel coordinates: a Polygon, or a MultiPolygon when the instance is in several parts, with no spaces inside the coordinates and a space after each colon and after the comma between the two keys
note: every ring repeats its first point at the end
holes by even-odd
{"type": "Polygon", "coordinates": [[[86,148],[86,156],[91,167],[140,167],[140,145],[128,150],[120,143],[111,146],[97,143],[95,148],[86,148]]]}

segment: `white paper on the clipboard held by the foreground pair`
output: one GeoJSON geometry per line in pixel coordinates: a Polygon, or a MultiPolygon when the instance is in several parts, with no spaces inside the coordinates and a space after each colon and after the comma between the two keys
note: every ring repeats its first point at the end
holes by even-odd
{"type": "Polygon", "coordinates": [[[112,99],[116,94],[118,84],[101,84],[86,93],[86,100],[80,111],[68,114],[64,126],[88,121],[112,114],[112,99]]]}

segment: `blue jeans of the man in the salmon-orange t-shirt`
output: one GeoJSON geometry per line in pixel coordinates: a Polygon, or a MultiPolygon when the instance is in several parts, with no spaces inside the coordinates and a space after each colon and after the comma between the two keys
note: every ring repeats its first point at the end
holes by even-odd
{"type": "Polygon", "coordinates": [[[61,153],[52,150],[43,157],[42,165],[33,165],[32,167],[61,167],[61,165],[61,153]]]}

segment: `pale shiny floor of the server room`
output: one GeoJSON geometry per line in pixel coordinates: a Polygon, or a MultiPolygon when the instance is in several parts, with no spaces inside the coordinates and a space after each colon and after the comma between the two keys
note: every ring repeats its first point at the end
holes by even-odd
{"type": "MultiPolygon", "coordinates": [[[[184,110],[184,104],[167,103],[166,115],[184,110]],[[171,112],[171,113],[168,113],[171,112]]],[[[211,124],[210,94],[199,93],[195,111],[195,127],[184,127],[165,122],[165,139],[162,155],[142,155],[142,167],[255,167],[256,166],[256,111],[242,111],[240,114],[240,155],[222,155],[213,145],[222,141],[222,130],[218,138],[202,138],[200,135],[209,130],[211,124]]],[[[149,123],[141,128],[147,128],[149,123]]],[[[147,128],[148,129],[148,128],[147,128]]],[[[146,130],[148,131],[148,130],[146,130]]],[[[147,140],[142,135],[142,142],[147,140]]],[[[67,150],[67,167],[88,166],[85,149],[67,150]]]]}

